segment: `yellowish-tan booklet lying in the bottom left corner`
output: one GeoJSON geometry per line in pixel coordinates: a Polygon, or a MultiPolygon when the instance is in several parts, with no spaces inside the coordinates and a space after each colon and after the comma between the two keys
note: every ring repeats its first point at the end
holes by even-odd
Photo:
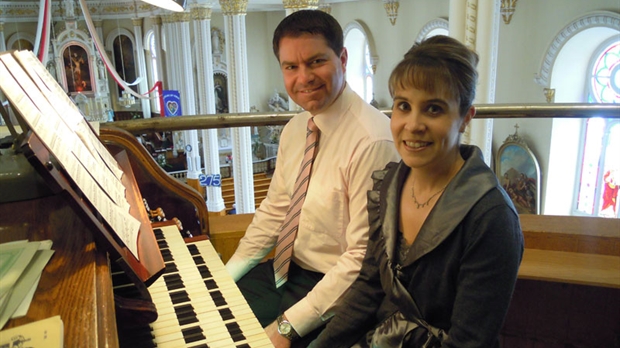
{"type": "Polygon", "coordinates": [[[64,325],[60,315],[0,331],[0,347],[62,348],[64,325]]]}

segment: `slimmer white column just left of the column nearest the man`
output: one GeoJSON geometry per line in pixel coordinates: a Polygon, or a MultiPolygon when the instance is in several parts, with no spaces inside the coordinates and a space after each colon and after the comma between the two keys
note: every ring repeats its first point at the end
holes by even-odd
{"type": "MultiPolygon", "coordinates": [[[[213,84],[213,56],[211,53],[211,8],[192,5],[194,20],[194,43],[196,45],[196,89],[198,113],[215,114],[215,94],[213,84]]],[[[217,129],[201,131],[202,156],[205,162],[205,174],[220,174],[219,146],[217,129]]],[[[222,198],[222,187],[207,186],[207,209],[220,212],[226,209],[222,198]]]]}

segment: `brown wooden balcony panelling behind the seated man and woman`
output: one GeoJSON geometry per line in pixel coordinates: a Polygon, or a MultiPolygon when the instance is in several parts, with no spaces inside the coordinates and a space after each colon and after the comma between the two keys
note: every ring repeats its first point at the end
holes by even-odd
{"type": "MultiPolygon", "coordinates": [[[[253,214],[209,219],[224,262],[253,214]]],[[[620,346],[620,220],[521,215],[525,252],[502,348],[620,346]]]]}

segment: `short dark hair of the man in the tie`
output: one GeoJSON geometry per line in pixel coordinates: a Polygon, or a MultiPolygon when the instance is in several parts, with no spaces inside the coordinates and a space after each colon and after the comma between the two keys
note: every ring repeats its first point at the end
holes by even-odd
{"type": "Polygon", "coordinates": [[[337,56],[342,52],[342,27],[330,14],[320,10],[300,10],[284,18],[273,33],[273,53],[280,60],[280,40],[303,34],[321,35],[337,56]]]}

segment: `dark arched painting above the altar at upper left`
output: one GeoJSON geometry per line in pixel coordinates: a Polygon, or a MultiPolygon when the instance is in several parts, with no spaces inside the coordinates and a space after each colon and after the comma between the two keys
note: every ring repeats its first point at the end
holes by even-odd
{"type": "Polygon", "coordinates": [[[68,93],[93,91],[88,53],[80,45],[69,45],[62,53],[68,93]]]}

